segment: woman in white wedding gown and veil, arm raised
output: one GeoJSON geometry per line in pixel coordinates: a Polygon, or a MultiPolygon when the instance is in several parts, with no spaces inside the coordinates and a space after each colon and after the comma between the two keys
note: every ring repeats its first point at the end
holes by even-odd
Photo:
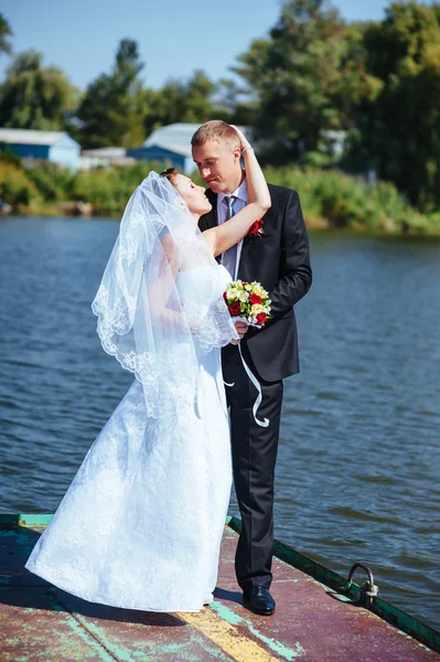
{"type": "Polygon", "coordinates": [[[248,141],[249,203],[203,235],[204,189],[174,170],[132,194],[93,310],[136,378],[86,455],[25,567],[92,602],[198,611],[213,599],[232,461],[221,348],[239,342],[214,256],[270,206],[248,141]]]}

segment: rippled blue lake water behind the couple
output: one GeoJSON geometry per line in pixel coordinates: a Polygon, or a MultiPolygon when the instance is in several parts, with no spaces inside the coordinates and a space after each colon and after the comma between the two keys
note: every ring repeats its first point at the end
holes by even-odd
{"type": "MultiPolygon", "coordinates": [[[[131,383],[90,311],[117,232],[0,218],[2,512],[53,512],[131,383]]],[[[276,536],[344,575],[367,563],[383,598],[440,629],[440,243],[328,233],[311,247],[276,536]]]]}

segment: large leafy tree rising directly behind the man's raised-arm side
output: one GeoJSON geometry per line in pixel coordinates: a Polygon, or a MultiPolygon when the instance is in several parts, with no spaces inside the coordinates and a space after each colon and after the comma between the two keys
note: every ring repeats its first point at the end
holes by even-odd
{"type": "Polygon", "coordinates": [[[325,0],[287,0],[270,39],[239,57],[234,71],[257,94],[257,127],[273,159],[298,159],[319,148],[324,129],[352,126],[351,99],[371,84],[359,42],[325,0]]]}

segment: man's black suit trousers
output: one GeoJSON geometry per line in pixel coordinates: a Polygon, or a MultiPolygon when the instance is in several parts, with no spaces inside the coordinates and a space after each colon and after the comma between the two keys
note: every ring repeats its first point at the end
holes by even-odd
{"type": "Polygon", "coordinates": [[[273,548],[273,476],[282,404],[282,381],[265,382],[250,360],[245,343],[245,361],[261,385],[262,402],[257,412],[260,420],[269,418],[267,428],[254,419],[253,406],[258,395],[243,367],[238,349],[223,350],[223,376],[230,407],[230,434],[234,482],[243,528],[235,555],[237,581],[244,591],[253,586],[269,588],[273,548]]]}

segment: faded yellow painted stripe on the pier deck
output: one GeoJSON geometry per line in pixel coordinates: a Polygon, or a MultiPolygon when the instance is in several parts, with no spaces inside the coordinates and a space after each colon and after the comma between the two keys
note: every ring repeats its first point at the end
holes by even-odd
{"type": "Polygon", "coordinates": [[[237,662],[279,662],[279,658],[273,658],[256,641],[239,634],[237,628],[211,609],[205,608],[195,613],[180,612],[175,616],[202,632],[237,662]]]}

